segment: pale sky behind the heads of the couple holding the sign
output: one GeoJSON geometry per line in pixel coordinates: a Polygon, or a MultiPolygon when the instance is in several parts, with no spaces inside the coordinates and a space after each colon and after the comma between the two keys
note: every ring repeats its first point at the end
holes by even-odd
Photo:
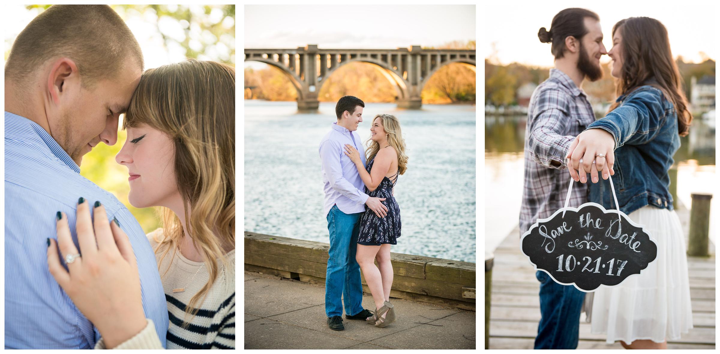
{"type": "MultiPolygon", "coordinates": [[[[550,43],[537,37],[540,27],[551,29],[552,17],[569,7],[583,7],[600,16],[603,43],[607,50],[613,44],[613,25],[627,17],[652,17],[665,24],[670,37],[673,57],[682,55],[685,62],[700,63],[705,58],[717,60],[717,9],[713,1],[684,0],[631,1],[533,1],[522,3],[518,10],[515,1],[492,1],[480,11],[481,32],[485,39],[478,46],[484,58],[490,58],[495,43],[497,59],[502,64],[513,62],[550,67],[553,56],[550,43]],[[652,4],[652,5],[651,5],[652,4]],[[662,4],[662,5],[661,5],[662,4]],[[498,14],[506,14],[499,16],[498,14]],[[703,57],[700,52],[705,53],[703,57]]],[[[603,55],[601,62],[609,62],[603,55]]]]}

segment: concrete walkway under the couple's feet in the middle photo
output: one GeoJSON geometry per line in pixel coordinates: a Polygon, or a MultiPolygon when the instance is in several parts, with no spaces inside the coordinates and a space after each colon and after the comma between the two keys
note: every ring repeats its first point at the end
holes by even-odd
{"type": "MultiPolygon", "coordinates": [[[[475,312],[390,299],[397,320],[328,328],[325,286],[245,272],[245,349],[475,349],[475,312]]],[[[374,309],[365,295],[365,309],[374,309]]]]}

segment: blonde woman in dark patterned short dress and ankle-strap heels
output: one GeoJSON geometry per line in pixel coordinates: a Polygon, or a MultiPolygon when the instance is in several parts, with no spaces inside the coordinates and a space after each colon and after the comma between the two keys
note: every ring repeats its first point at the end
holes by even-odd
{"type": "Polygon", "coordinates": [[[392,263],[390,245],[397,245],[400,237],[400,207],[393,196],[397,178],[408,169],[405,155],[405,139],[400,131],[400,121],[392,114],[377,114],[370,127],[367,141],[367,166],[360,153],[352,145],[345,145],[345,154],[355,163],[365,183],[365,193],[384,198],[387,215],[378,217],[366,208],[359,221],[356,260],[365,276],[375,302],[375,313],[366,321],[376,327],[385,327],[395,321],[395,308],[390,303],[392,288],[392,263]],[[377,260],[375,266],[374,260],[377,260]]]}

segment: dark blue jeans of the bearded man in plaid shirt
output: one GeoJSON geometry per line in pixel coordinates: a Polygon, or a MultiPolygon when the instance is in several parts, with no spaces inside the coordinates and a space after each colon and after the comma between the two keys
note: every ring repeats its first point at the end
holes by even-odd
{"type": "Polygon", "coordinates": [[[580,330],[580,309],[585,293],[572,285],[560,285],[544,271],[540,281],[540,324],[535,349],[575,349],[580,330]]]}

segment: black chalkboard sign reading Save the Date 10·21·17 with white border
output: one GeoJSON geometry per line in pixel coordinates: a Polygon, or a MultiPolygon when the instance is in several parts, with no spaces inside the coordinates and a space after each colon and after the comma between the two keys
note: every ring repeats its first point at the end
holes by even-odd
{"type": "Polygon", "coordinates": [[[597,203],[538,219],[523,235],[521,248],[536,269],[585,292],[616,286],[657,257],[657,243],[639,224],[597,203]]]}

